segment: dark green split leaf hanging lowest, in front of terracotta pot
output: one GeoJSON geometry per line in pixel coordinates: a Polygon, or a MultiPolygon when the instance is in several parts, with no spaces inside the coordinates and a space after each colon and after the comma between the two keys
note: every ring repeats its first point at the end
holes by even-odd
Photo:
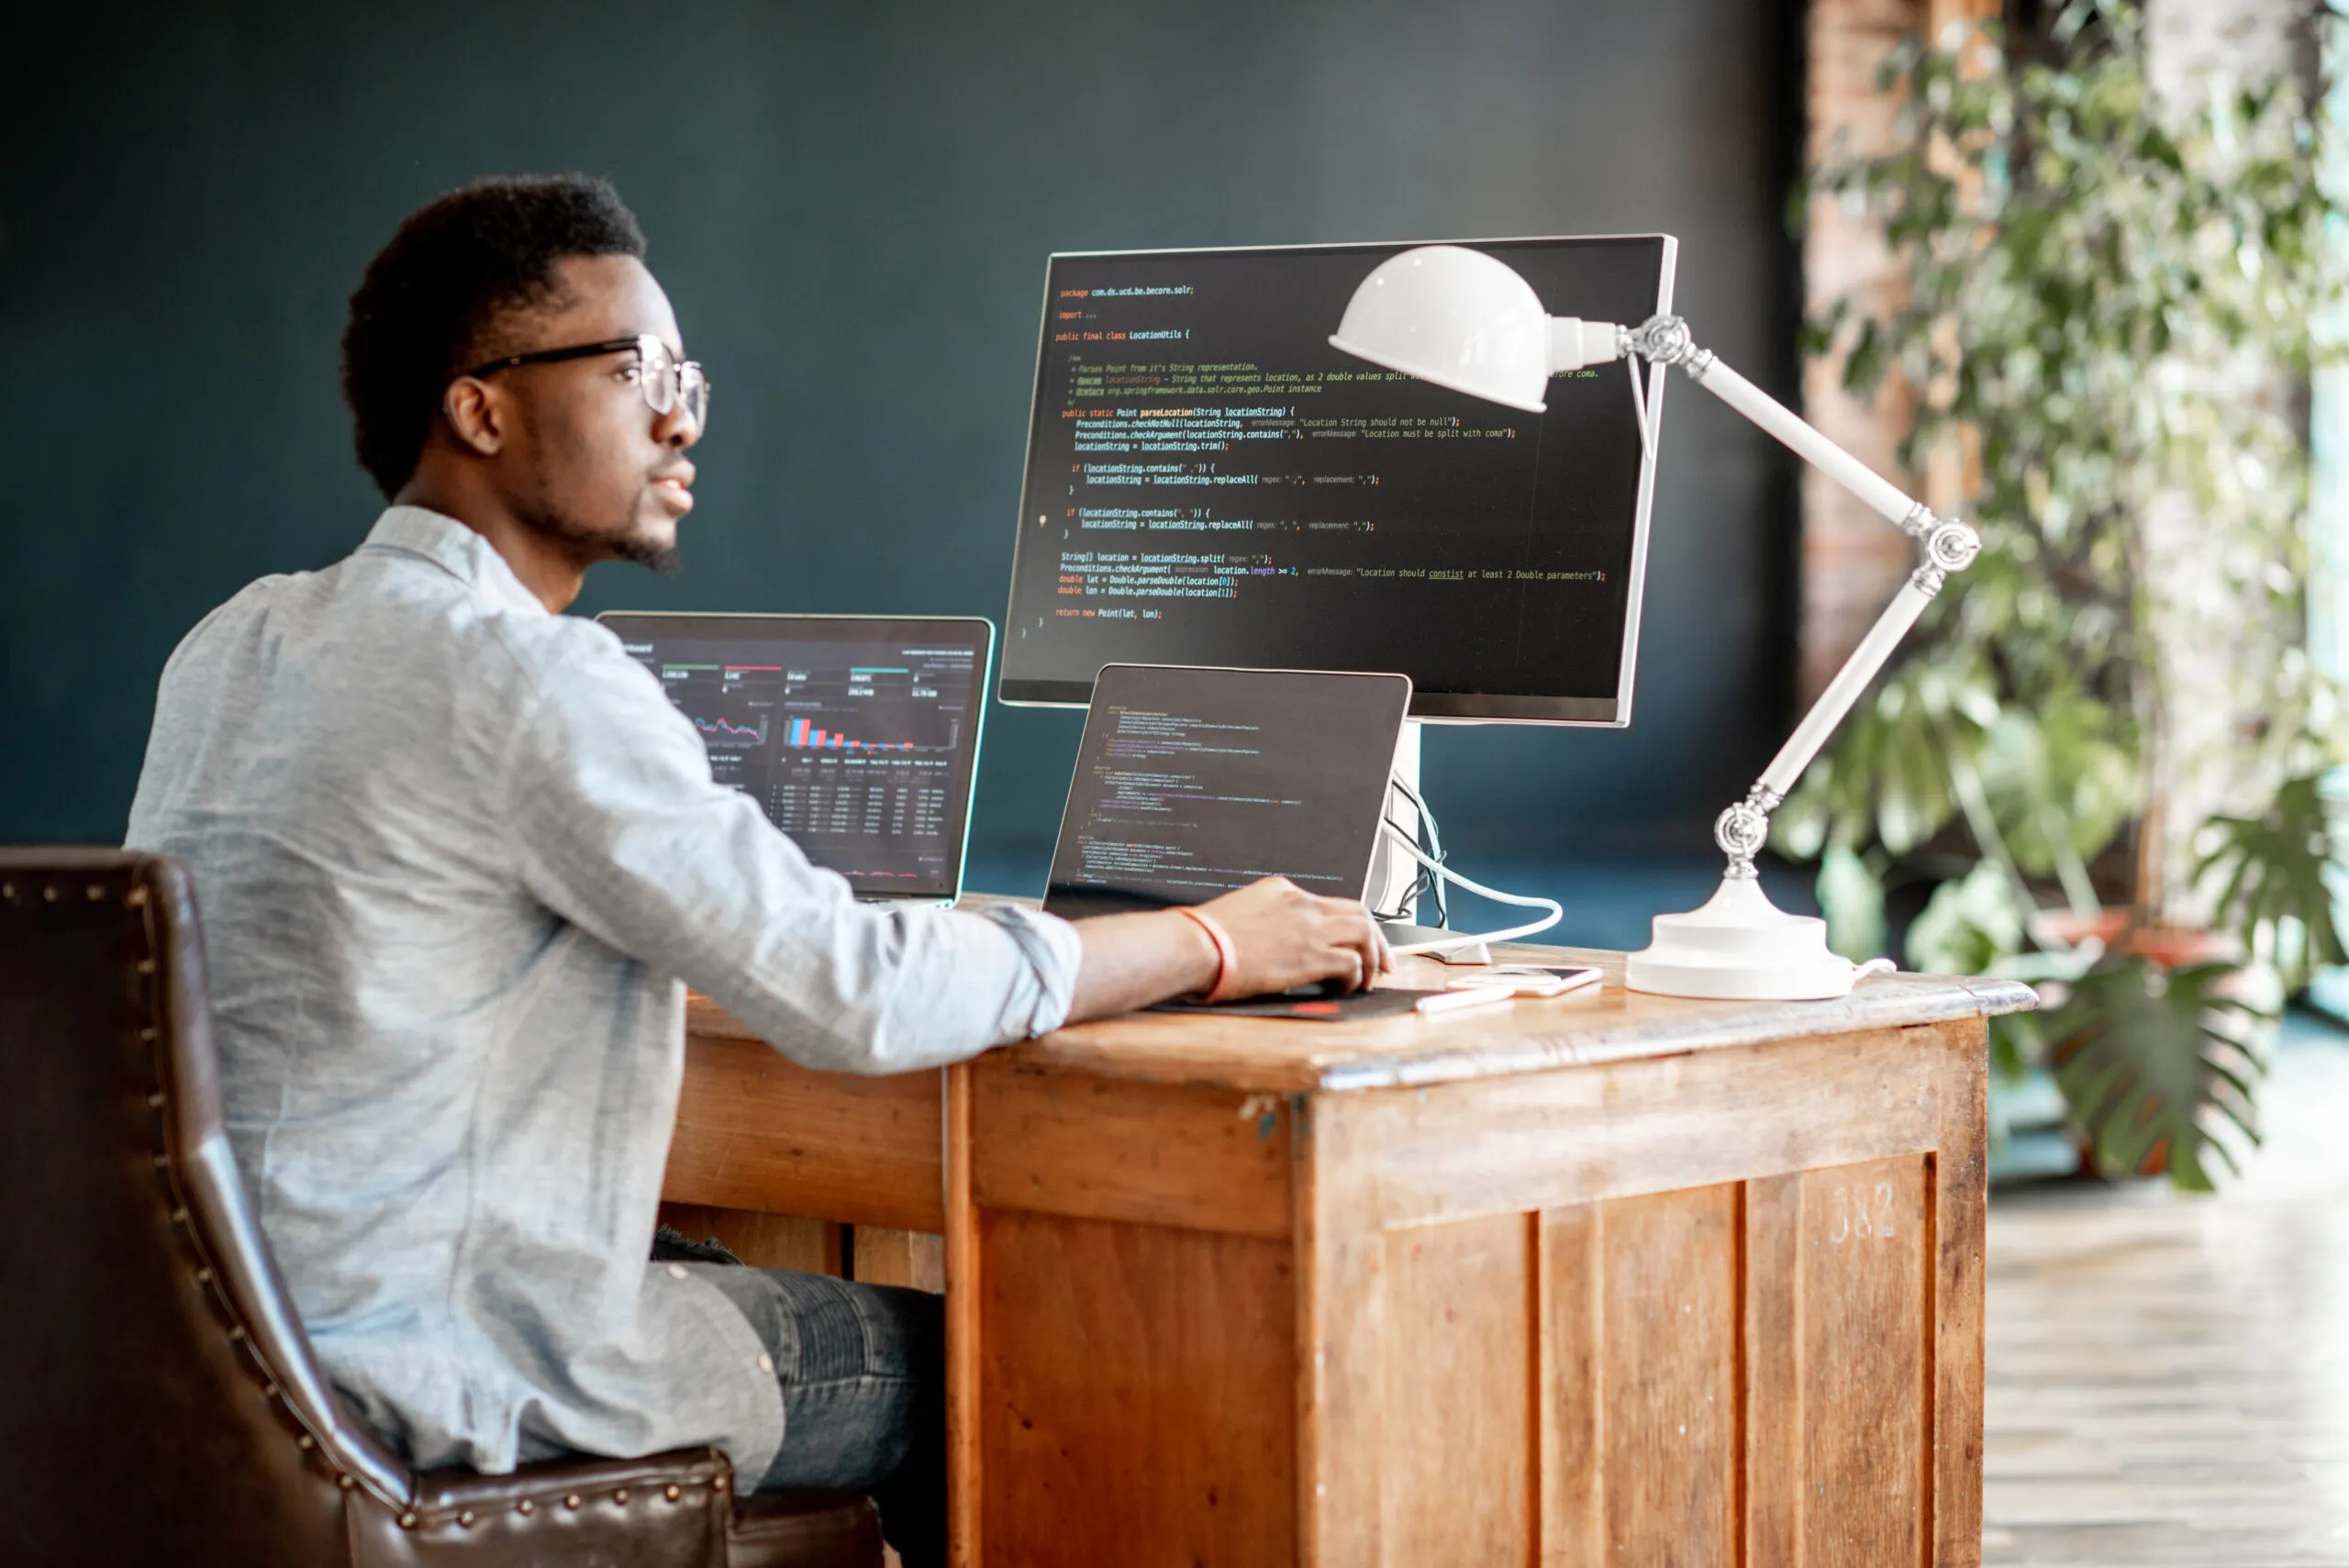
{"type": "Polygon", "coordinates": [[[2208,1192],[2206,1155],[2239,1171],[2213,1127],[2229,1122],[2260,1141],[2250,1080],[2262,1066],[2248,1028],[2260,1012],[2220,993],[2232,974],[2232,965],[2163,972],[2123,958],[2074,981],[2046,1019],[2055,1084],[2105,1176],[2166,1162],[2178,1188],[2208,1192]]]}

